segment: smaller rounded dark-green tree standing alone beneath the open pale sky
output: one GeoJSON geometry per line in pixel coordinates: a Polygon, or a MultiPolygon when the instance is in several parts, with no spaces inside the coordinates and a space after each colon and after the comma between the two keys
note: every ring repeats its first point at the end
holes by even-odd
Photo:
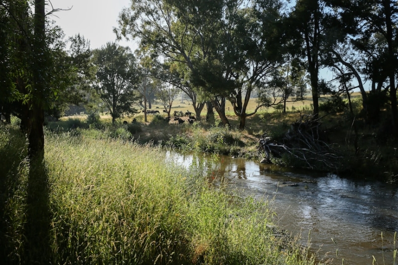
{"type": "Polygon", "coordinates": [[[93,87],[109,110],[112,123],[123,114],[135,113],[139,73],[134,55],[128,47],[113,42],[94,50],[97,67],[93,87]]]}

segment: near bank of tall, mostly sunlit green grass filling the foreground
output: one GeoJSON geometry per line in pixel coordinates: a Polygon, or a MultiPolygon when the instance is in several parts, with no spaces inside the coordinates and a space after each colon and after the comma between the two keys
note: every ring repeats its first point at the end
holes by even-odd
{"type": "Polygon", "coordinates": [[[39,163],[15,127],[0,130],[5,264],[315,264],[266,202],[231,197],[159,149],[47,133],[39,163]]]}

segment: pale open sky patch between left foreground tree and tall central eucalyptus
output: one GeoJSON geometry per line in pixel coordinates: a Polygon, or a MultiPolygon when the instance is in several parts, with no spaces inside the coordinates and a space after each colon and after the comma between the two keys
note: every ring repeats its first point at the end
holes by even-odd
{"type": "MultiPolygon", "coordinates": [[[[124,7],[130,5],[130,0],[46,0],[52,3],[54,9],[69,9],[55,12],[51,19],[56,21],[66,37],[80,33],[90,40],[90,48],[96,49],[106,42],[116,41],[113,27],[117,27],[117,18],[124,7]]],[[[47,8],[51,10],[51,5],[47,8]]],[[[129,46],[132,51],[137,49],[133,41],[122,40],[122,46],[129,46]]]]}

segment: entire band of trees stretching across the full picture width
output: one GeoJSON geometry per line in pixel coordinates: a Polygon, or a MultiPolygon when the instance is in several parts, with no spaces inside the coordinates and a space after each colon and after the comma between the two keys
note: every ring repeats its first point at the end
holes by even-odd
{"type": "Polygon", "coordinates": [[[67,46],[49,19],[66,10],[46,13],[45,4],[0,1],[0,111],[21,118],[31,154],[44,147],[44,113],[97,98],[93,109],[102,105],[114,121],[137,111],[140,98],[146,115],[157,96],[170,115],[178,90],[197,117],[207,104],[225,126],[229,101],[243,129],[260,107],[286,108],[306,90],[317,118],[320,94],[349,98],[358,89],[366,122],[379,124],[387,109],[389,133],[398,136],[395,0],[131,0],[114,32],[138,41],[135,53],[117,43],[92,51],[79,35],[67,46]],[[322,79],[325,68],[331,79],[322,79]],[[249,111],[253,93],[258,104],[249,111]]]}

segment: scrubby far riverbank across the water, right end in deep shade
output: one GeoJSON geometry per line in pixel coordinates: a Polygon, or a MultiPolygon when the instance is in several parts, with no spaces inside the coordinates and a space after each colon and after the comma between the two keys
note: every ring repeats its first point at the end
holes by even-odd
{"type": "MultiPolygon", "coordinates": [[[[304,110],[302,110],[304,111],[304,110]]],[[[118,120],[111,125],[109,117],[103,116],[95,123],[88,124],[86,116],[64,117],[59,122],[49,122],[53,131],[69,131],[76,128],[98,128],[110,137],[123,138],[139,144],[159,145],[174,148],[180,152],[205,152],[262,160],[265,156],[259,146],[260,138],[266,134],[273,141],[284,143],[286,134],[292,131],[292,124],[302,119],[301,111],[260,112],[247,118],[246,128],[238,130],[238,118],[228,116],[231,129],[220,126],[217,116],[209,121],[205,117],[187,120],[180,124],[173,119],[167,122],[161,115],[148,115],[145,123],[143,115],[136,115],[135,124],[131,118],[118,120]]],[[[374,179],[377,181],[398,181],[398,144],[392,137],[386,136],[378,127],[371,127],[360,118],[354,120],[344,113],[328,114],[319,119],[319,131],[322,141],[338,152],[336,168],[325,167],[320,170],[337,173],[341,176],[374,179]]],[[[274,156],[271,161],[276,165],[310,169],[306,161],[292,155],[274,156]]]]}

